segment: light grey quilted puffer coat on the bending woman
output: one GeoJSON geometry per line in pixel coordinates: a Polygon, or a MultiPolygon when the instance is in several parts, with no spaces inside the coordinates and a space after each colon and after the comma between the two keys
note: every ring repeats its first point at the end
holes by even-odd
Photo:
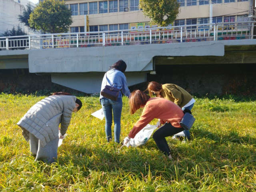
{"type": "Polygon", "coordinates": [[[58,136],[59,125],[60,133],[64,135],[76,106],[75,101],[75,96],[52,95],[34,104],[17,123],[25,140],[29,141],[31,133],[45,146],[58,136]]]}

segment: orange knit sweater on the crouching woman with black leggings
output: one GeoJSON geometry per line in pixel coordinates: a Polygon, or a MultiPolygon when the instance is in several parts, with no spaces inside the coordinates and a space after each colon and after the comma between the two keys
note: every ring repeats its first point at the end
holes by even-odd
{"type": "Polygon", "coordinates": [[[160,119],[162,124],[170,122],[172,126],[181,128],[179,122],[183,116],[184,113],[182,109],[174,104],[174,102],[164,98],[150,98],[142,111],[140,119],[133,126],[128,136],[134,138],[134,136],[154,118],[160,119]]]}

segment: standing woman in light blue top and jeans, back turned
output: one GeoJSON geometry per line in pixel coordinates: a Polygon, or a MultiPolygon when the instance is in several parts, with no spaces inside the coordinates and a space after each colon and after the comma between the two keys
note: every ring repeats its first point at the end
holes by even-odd
{"type": "MultiPolygon", "coordinates": [[[[129,97],[131,93],[127,86],[126,76],[124,75],[125,70],[126,63],[123,60],[114,63],[110,67],[110,70],[104,75],[101,90],[103,90],[107,84],[120,89],[125,96],[129,97]]],[[[112,111],[114,117],[114,141],[117,143],[120,142],[121,113],[123,106],[121,91],[116,101],[100,95],[100,102],[106,119],[105,132],[108,142],[112,140],[112,111]]]]}

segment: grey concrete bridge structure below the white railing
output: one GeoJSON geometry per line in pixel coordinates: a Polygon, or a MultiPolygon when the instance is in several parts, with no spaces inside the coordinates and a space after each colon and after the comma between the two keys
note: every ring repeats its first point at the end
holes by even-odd
{"type": "Polygon", "coordinates": [[[256,39],[181,42],[125,46],[124,41],[123,46],[2,50],[0,69],[28,68],[30,73],[51,74],[56,84],[95,93],[100,92],[104,72],[119,59],[127,63],[128,86],[146,82],[147,74],[155,74],[160,65],[256,63],[256,39]]]}

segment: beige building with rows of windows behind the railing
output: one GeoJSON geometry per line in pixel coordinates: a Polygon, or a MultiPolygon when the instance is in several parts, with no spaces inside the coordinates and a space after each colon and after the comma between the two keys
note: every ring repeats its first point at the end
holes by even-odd
{"type": "MultiPolygon", "coordinates": [[[[65,0],[72,10],[70,32],[155,27],[138,7],[139,0],[65,0]]],[[[253,0],[178,0],[180,13],[170,25],[249,21],[253,0]]],[[[242,24],[241,24],[242,25],[242,24]]],[[[193,27],[191,27],[193,28],[193,27]]]]}

